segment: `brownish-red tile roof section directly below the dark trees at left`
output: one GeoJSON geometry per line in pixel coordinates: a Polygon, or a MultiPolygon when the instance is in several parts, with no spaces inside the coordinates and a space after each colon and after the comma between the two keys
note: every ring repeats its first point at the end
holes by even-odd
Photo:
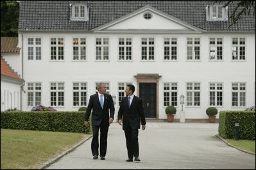
{"type": "Polygon", "coordinates": [[[17,47],[18,37],[1,37],[1,53],[2,52],[19,52],[21,49],[17,47]]]}

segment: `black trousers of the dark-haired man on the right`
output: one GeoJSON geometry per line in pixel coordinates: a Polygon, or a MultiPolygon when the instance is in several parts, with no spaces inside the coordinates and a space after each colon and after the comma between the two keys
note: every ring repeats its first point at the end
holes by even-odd
{"type": "Polygon", "coordinates": [[[130,126],[124,130],[126,138],[126,148],[128,151],[128,158],[139,157],[139,142],[138,142],[138,129],[132,129],[130,126]]]}

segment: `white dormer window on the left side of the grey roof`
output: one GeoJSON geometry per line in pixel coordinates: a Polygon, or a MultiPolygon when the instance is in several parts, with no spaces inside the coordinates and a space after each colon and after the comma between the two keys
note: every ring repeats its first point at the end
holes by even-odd
{"type": "Polygon", "coordinates": [[[89,8],[85,4],[70,4],[72,6],[71,20],[89,20],[89,8]]]}

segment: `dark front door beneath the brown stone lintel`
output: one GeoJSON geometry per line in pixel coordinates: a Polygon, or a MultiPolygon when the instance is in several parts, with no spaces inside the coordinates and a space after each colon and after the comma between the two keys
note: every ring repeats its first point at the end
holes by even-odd
{"type": "Polygon", "coordinates": [[[157,83],[140,82],[139,97],[142,99],[145,118],[157,118],[157,83]]]}

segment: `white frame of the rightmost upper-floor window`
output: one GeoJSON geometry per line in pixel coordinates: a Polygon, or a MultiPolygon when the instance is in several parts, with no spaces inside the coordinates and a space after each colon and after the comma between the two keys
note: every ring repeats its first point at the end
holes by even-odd
{"type": "Polygon", "coordinates": [[[232,61],[246,61],[246,54],[247,54],[247,52],[246,52],[246,38],[245,37],[232,37],[232,39],[231,39],[231,42],[232,42],[232,49],[231,49],[231,52],[232,52],[232,54],[231,54],[231,60],[232,61]],[[234,38],[237,38],[237,44],[233,44],[233,40],[234,40],[234,38]],[[244,39],[244,44],[240,44],[240,39],[244,39]],[[234,50],[234,48],[235,47],[237,47],[237,59],[234,59],[234,57],[233,57],[233,54],[234,54],[234,52],[233,52],[233,50],[234,50]],[[244,47],[244,59],[240,59],[241,58],[241,56],[240,56],[240,47],[244,47]]]}

